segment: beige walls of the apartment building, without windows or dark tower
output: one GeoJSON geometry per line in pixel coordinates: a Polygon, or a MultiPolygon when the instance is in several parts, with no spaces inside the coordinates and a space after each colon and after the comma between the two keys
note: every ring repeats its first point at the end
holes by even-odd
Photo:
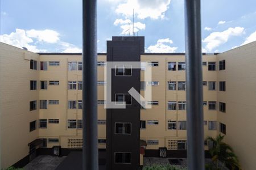
{"type": "MultiPolygon", "coordinates": [[[[204,105],[205,137],[215,137],[220,133],[219,122],[225,124],[226,142],[234,148],[243,169],[256,169],[253,153],[256,150],[253,145],[256,142],[255,47],[256,42],[252,42],[225,53],[203,55],[203,62],[207,62],[207,65],[203,65],[203,81],[207,82],[203,86],[203,99],[207,101],[204,105]],[[226,69],[218,70],[218,61],[223,59],[226,69]],[[216,70],[208,70],[210,62],[216,62],[216,70]],[[220,81],[226,82],[226,91],[219,91],[220,81]],[[210,82],[215,82],[215,90],[209,90],[209,86],[212,87],[210,82]],[[216,109],[209,109],[209,101],[210,108],[214,108],[216,102],[216,109]],[[226,104],[225,113],[219,112],[219,102],[226,104]]],[[[55,145],[81,148],[82,130],[77,122],[82,120],[82,109],[79,109],[79,101],[82,100],[82,90],[79,89],[79,82],[82,81],[82,71],[79,70],[81,55],[39,55],[1,43],[0,59],[2,167],[8,167],[27,156],[27,144],[36,138],[47,139],[49,148],[55,145]],[[38,62],[37,70],[30,69],[30,59],[38,62]],[[55,61],[59,65],[49,65],[49,62],[55,61]],[[47,70],[40,70],[40,62],[46,62],[47,70]],[[37,81],[36,90],[30,90],[30,80],[37,81]],[[47,81],[47,89],[41,89],[41,81],[47,81]],[[50,81],[59,81],[59,85],[51,85],[55,83],[50,81]],[[30,111],[30,101],[33,100],[37,101],[37,109],[30,111]],[[40,100],[47,100],[47,109],[40,109],[40,100]],[[58,100],[59,103],[52,100],[58,100]],[[30,122],[34,120],[36,130],[30,132],[30,122]],[[47,128],[39,128],[40,120],[47,120],[47,128]],[[68,123],[68,120],[74,120],[76,128],[74,122],[68,123]]],[[[101,61],[106,61],[106,54],[98,55],[98,62],[101,61]]],[[[186,121],[186,111],[181,102],[186,99],[185,90],[180,90],[182,86],[178,84],[185,82],[185,71],[178,70],[178,64],[185,62],[184,54],[144,54],[141,61],[158,62],[158,66],[152,66],[152,81],[158,82],[158,86],[152,86],[152,100],[158,101],[158,104],[152,105],[152,109],[141,109],[141,120],[146,125],[146,128],[141,129],[141,139],[147,141],[147,149],[183,148],[187,131],[181,122],[186,121]],[[176,62],[176,71],[168,70],[168,62],[176,62]],[[175,90],[168,89],[168,82],[176,83],[175,90]],[[171,109],[174,103],[176,109],[171,109]],[[176,122],[176,125],[168,126],[168,122],[176,122]],[[174,126],[176,128],[172,128],[174,126]]],[[[104,66],[98,66],[98,81],[104,82],[104,66]]],[[[144,94],[143,90],[141,94],[144,94]]],[[[104,100],[104,84],[98,84],[98,100],[104,100]]],[[[98,124],[98,139],[106,139],[106,110],[100,103],[98,120],[102,122],[98,124]]],[[[104,140],[98,143],[99,148],[105,146],[104,140]]],[[[208,149],[207,145],[205,149],[208,149]]]]}

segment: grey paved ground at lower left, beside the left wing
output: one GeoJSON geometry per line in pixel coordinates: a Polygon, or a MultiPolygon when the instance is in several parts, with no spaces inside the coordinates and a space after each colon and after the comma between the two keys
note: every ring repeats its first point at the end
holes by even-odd
{"type": "Polygon", "coordinates": [[[54,170],[66,157],[39,155],[23,168],[26,170],[54,170]]]}

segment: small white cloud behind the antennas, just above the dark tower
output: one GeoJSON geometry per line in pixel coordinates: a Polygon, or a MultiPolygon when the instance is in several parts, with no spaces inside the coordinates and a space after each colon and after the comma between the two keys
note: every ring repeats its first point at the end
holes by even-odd
{"type": "MultiPolygon", "coordinates": [[[[123,30],[121,34],[128,35],[129,33],[133,34],[133,24],[129,25],[129,23],[131,23],[130,19],[126,19],[126,20],[116,19],[114,22],[114,25],[120,24],[121,25],[120,28],[122,28],[123,30]]],[[[141,22],[134,23],[134,32],[138,32],[145,28],[146,28],[146,25],[141,22]]]]}

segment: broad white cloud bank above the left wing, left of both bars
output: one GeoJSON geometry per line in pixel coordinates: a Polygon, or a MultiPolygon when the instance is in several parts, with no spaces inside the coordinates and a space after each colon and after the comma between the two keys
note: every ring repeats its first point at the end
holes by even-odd
{"type": "Polygon", "coordinates": [[[50,43],[56,46],[57,52],[81,52],[82,50],[77,46],[68,42],[60,41],[59,33],[50,29],[35,30],[30,29],[25,31],[24,29],[16,29],[15,32],[11,32],[9,35],[0,35],[0,41],[6,44],[16,46],[18,48],[26,47],[31,52],[47,52],[46,49],[38,49],[36,42],[50,43]]]}

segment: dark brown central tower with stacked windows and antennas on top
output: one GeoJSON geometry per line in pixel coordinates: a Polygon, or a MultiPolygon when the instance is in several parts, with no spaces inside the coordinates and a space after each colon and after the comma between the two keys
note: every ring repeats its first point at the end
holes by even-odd
{"type": "Polygon", "coordinates": [[[128,93],[131,87],[138,92],[141,69],[133,69],[126,61],[141,61],[144,53],[144,37],[112,37],[107,41],[107,61],[123,62],[112,69],[112,101],[123,101],[125,109],[106,109],[106,167],[114,169],[138,169],[140,148],[140,105],[128,93]]]}

